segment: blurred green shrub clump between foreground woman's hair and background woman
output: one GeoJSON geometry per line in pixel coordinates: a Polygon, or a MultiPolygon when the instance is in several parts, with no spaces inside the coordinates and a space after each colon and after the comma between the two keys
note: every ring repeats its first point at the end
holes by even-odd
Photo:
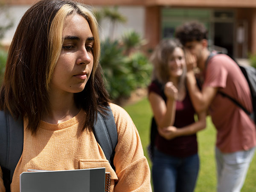
{"type": "Polygon", "coordinates": [[[138,87],[148,84],[151,64],[140,52],[130,57],[118,41],[106,40],[101,44],[100,64],[105,75],[105,85],[111,99],[117,101],[130,96],[138,87]]]}

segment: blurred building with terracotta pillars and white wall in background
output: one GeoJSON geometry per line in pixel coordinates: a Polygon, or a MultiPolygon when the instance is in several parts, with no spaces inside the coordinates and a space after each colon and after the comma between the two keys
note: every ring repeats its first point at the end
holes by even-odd
{"type": "MultiPolygon", "coordinates": [[[[15,23],[33,0],[5,0],[15,13],[15,23]]],[[[162,38],[172,38],[180,24],[198,20],[209,30],[212,49],[228,52],[236,58],[256,54],[256,0],[79,0],[97,9],[118,6],[128,18],[126,24],[116,28],[116,38],[125,30],[133,29],[154,49],[162,38]]],[[[103,21],[102,38],[108,35],[108,21],[103,21]]],[[[16,27],[16,26],[15,26],[16,27]]],[[[9,41],[15,31],[6,34],[9,41]]]]}

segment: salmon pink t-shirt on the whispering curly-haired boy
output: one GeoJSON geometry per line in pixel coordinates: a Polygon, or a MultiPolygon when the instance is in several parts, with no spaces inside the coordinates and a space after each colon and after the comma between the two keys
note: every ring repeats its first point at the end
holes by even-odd
{"type": "MultiPolygon", "coordinates": [[[[239,66],[225,54],[210,58],[205,70],[204,87],[218,87],[218,91],[236,99],[252,111],[249,85],[239,66]]],[[[253,120],[227,97],[217,92],[209,112],[217,129],[216,146],[223,153],[248,150],[256,145],[256,128],[253,120]]]]}

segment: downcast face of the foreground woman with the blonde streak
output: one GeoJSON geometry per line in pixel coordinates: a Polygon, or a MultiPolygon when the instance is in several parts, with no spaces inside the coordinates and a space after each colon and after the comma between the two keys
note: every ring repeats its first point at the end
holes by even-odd
{"type": "Polygon", "coordinates": [[[69,15],[62,32],[61,54],[54,68],[50,89],[79,93],[93,69],[93,34],[81,15],[69,15]]]}

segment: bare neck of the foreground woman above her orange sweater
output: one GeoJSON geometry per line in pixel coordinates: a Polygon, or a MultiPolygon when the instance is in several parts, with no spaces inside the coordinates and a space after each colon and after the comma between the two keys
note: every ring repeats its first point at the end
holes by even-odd
{"type": "Polygon", "coordinates": [[[73,93],[49,93],[50,111],[42,120],[58,124],[76,116],[80,109],[76,106],[73,93]]]}

